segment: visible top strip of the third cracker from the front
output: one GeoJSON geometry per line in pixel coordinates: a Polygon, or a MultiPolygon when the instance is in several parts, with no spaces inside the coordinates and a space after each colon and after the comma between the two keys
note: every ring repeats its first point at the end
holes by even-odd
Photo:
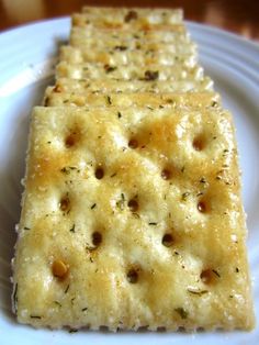
{"type": "Polygon", "coordinates": [[[68,79],[58,78],[55,92],[77,92],[78,94],[89,92],[190,92],[213,89],[213,81],[209,77],[200,80],[114,80],[114,79],[68,79]]]}

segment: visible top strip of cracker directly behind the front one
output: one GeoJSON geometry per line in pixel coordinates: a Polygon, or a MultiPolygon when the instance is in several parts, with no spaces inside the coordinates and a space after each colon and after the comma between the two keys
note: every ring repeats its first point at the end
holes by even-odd
{"type": "Polygon", "coordinates": [[[218,107],[219,94],[215,92],[184,92],[184,93],[153,93],[153,92],[130,92],[130,93],[75,93],[56,92],[54,87],[46,89],[43,103],[46,107],[218,107]]]}

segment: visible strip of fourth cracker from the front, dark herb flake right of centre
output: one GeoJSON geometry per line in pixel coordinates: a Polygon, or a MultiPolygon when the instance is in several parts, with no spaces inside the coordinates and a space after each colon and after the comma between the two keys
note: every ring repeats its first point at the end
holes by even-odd
{"type": "Polygon", "coordinates": [[[60,62],[56,67],[57,78],[71,79],[122,79],[122,80],[201,80],[203,68],[194,65],[189,58],[176,62],[173,65],[106,65],[77,64],[60,62]]]}

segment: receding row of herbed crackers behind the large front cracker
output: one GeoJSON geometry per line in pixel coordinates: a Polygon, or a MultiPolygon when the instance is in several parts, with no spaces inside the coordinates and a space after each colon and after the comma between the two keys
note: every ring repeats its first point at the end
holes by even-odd
{"type": "Polygon", "coordinates": [[[60,48],[45,105],[215,105],[181,10],[85,7],[60,48]],[[123,93],[123,94],[122,94],[123,93]],[[112,99],[112,101],[111,101],[112,99]],[[173,99],[173,101],[165,100],[173,99]]]}

